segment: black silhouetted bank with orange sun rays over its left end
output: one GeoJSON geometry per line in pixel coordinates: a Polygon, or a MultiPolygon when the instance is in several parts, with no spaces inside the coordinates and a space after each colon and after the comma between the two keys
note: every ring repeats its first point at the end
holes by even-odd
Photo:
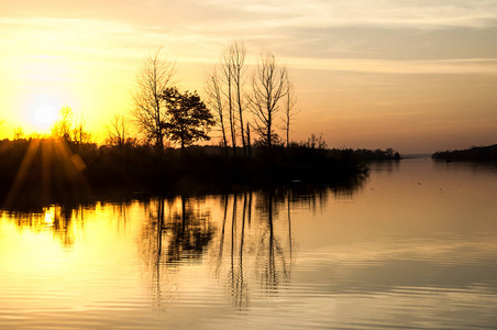
{"type": "Polygon", "coordinates": [[[0,195],[12,204],[20,198],[49,202],[113,193],[223,193],[290,182],[340,183],[364,175],[365,165],[352,150],[307,143],[254,146],[251,156],[227,156],[222,146],[157,153],[147,145],[3,140],[0,195]]]}

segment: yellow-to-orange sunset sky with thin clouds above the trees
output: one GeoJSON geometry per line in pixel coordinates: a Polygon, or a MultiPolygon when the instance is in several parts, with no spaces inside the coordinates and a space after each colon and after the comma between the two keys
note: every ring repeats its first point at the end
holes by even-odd
{"type": "Polygon", "coordinates": [[[497,1],[88,0],[0,2],[0,139],[47,131],[69,106],[96,140],[128,113],[157,46],[181,89],[233,41],[286,63],[292,139],[431,153],[497,143],[497,1]]]}

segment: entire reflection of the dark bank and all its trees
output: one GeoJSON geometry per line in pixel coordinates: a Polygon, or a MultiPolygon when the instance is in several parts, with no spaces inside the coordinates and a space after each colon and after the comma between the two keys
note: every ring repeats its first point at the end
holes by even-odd
{"type": "MultiPolygon", "coordinates": [[[[158,308],[165,301],[179,299],[178,288],[192,275],[185,267],[207,262],[211,266],[209,274],[225,289],[228,302],[243,311],[254,297],[278,296],[289,285],[298,246],[292,232],[294,212],[316,211],[333,198],[349,198],[361,186],[357,183],[345,189],[294,183],[223,196],[53,206],[9,219],[19,227],[52,231],[66,246],[81,240],[81,234],[132,244],[128,249],[137,248],[145,264],[144,275],[150,279],[147,287],[158,308]],[[93,213],[89,207],[96,209],[93,213]],[[84,229],[85,222],[90,231],[84,229]],[[115,231],[109,234],[111,230],[115,231]]],[[[95,244],[95,240],[88,242],[95,244]]],[[[86,251],[88,246],[80,248],[86,251]]],[[[189,292],[197,283],[190,284],[189,292]]]]}

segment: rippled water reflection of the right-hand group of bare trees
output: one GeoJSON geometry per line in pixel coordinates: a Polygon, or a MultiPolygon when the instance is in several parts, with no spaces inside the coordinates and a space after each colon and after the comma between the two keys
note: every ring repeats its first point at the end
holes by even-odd
{"type": "Polygon", "coordinates": [[[248,307],[251,290],[277,295],[290,277],[291,224],[283,227],[278,219],[288,199],[276,195],[275,190],[246,191],[221,199],[223,219],[213,253],[214,275],[224,283],[230,304],[241,310],[248,307]],[[228,215],[231,221],[227,221],[228,215]],[[261,288],[254,288],[256,283],[261,288]]]}

